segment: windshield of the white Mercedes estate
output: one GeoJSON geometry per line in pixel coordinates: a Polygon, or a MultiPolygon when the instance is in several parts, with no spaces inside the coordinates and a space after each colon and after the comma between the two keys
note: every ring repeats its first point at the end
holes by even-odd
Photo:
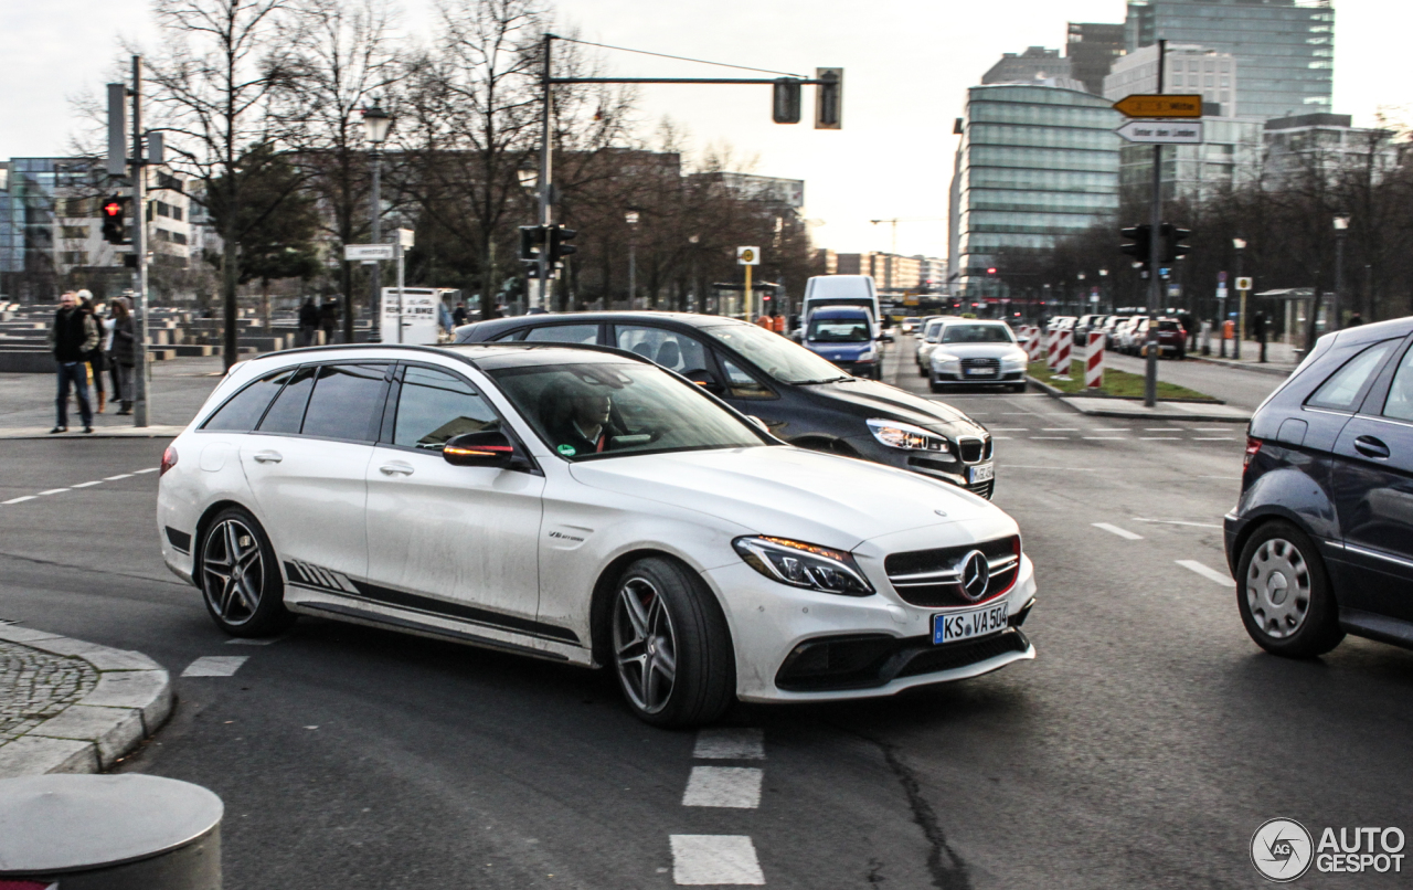
{"type": "Polygon", "coordinates": [[[694,386],[656,366],[540,364],[489,373],[536,435],[567,461],[764,445],[694,386]]]}

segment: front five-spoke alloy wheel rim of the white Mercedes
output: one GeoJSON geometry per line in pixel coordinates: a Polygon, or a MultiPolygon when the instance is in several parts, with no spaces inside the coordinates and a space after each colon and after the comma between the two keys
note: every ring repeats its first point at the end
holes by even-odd
{"type": "Polygon", "coordinates": [[[660,713],[677,685],[677,634],[661,593],[646,578],[625,581],[613,606],[619,682],[633,705],[660,713]]]}

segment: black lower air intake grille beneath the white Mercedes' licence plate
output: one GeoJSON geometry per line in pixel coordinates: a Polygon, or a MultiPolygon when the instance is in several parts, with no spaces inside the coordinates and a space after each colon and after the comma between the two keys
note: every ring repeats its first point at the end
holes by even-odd
{"type": "Polygon", "coordinates": [[[954,671],[1027,648],[1030,640],[1015,626],[989,637],[945,646],[934,646],[930,636],[821,637],[794,647],[776,672],[776,685],[787,692],[868,689],[899,677],[954,671]]]}

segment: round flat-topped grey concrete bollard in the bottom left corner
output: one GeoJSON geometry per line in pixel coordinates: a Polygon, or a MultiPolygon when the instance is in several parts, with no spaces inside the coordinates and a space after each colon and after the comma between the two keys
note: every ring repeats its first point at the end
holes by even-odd
{"type": "Polygon", "coordinates": [[[213,793],[158,776],[0,781],[0,886],[220,890],[213,793]]]}

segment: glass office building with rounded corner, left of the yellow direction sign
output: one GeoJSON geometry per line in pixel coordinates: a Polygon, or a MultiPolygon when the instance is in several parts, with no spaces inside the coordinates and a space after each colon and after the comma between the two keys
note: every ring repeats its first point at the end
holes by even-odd
{"type": "Polygon", "coordinates": [[[974,86],[958,121],[951,268],[958,295],[982,295],[986,270],[1112,222],[1119,209],[1122,116],[1108,99],[1058,86],[974,86]]]}

